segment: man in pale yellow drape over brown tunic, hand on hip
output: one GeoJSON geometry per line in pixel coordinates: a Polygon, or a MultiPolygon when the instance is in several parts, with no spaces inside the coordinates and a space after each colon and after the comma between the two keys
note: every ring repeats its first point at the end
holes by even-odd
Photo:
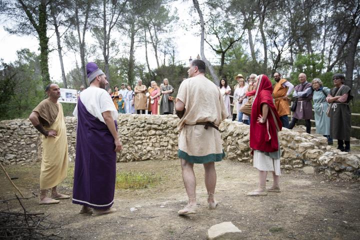
{"type": "Polygon", "coordinates": [[[60,97],[60,88],[50,83],[46,86],[48,97],[42,100],[31,112],[29,120],[42,133],[42,161],[40,169],[39,204],[58,203],[57,199],[69,198],[58,193],[56,186],[67,174],[67,137],[66,126],[60,97]],[[51,198],[46,190],[51,188],[51,198]]]}

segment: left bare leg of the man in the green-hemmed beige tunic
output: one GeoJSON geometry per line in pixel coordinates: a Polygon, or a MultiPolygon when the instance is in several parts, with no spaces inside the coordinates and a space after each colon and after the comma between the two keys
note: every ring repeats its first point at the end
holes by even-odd
{"type": "Polygon", "coordinates": [[[177,213],[180,215],[196,213],[196,178],[193,171],[193,163],[187,162],[184,159],[180,159],[180,162],[182,169],[182,179],[188,197],[188,204],[177,213]]]}

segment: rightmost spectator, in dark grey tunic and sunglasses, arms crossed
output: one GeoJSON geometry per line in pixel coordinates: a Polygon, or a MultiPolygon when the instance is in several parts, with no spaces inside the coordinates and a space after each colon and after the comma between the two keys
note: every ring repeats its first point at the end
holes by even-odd
{"type": "Polygon", "coordinates": [[[330,103],[330,136],[337,139],[337,149],[350,151],[351,136],[351,110],[348,105],[352,99],[351,88],[344,85],[345,77],[341,73],[332,76],[334,87],[327,95],[326,101],[330,103]],[[345,147],[344,144],[345,143],[345,147]]]}

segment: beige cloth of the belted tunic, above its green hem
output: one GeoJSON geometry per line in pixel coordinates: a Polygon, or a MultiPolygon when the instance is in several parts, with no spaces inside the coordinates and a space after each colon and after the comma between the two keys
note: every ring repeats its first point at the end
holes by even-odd
{"type": "Polygon", "coordinates": [[[190,156],[222,154],[220,132],[213,127],[194,125],[213,122],[218,126],[228,116],[218,87],[199,74],[182,81],[176,98],[185,104],[185,113],[177,124],[178,149],[190,156]]]}

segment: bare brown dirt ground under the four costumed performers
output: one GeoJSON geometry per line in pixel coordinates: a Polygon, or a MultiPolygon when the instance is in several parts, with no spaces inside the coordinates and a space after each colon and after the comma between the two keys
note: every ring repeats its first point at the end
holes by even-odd
{"type": "MultiPolygon", "coordinates": [[[[25,194],[38,193],[39,164],[6,166],[14,182],[25,194]]],[[[113,206],[117,212],[91,216],[79,214],[79,205],[71,199],[55,205],[37,205],[36,197],[24,199],[29,212],[50,213],[49,218],[61,222],[54,232],[76,239],[206,239],[207,229],[223,221],[231,221],[242,230],[244,239],[360,239],[360,183],[328,181],[318,174],[282,173],[281,192],[249,197],[254,189],[257,170],[249,163],[224,160],[216,163],[215,198],[219,205],[208,210],[202,165],[196,165],[199,212],[177,215],[186,205],[179,160],[152,160],[117,163],[118,171],[141,171],[161,176],[159,184],[145,189],[115,190],[113,206]],[[140,207],[139,207],[140,206],[140,207]],[[137,210],[130,211],[131,207],[137,210]]],[[[70,163],[69,173],[73,169],[70,163]]],[[[13,197],[14,189],[0,171],[0,200],[13,197]]],[[[271,184],[271,176],[268,176],[271,184]]],[[[59,188],[71,194],[72,177],[59,188]]],[[[12,210],[19,210],[10,201],[12,210]]],[[[0,203],[5,209],[6,204],[0,203]]]]}

